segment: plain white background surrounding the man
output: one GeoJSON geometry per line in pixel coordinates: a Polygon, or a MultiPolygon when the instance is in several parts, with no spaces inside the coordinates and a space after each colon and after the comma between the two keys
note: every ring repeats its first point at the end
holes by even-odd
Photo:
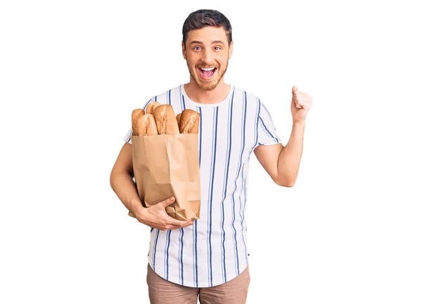
{"type": "Polygon", "coordinates": [[[148,303],[149,228],[109,175],[132,110],[188,81],[198,8],[284,144],[292,86],[314,98],[293,188],[252,158],[248,303],[422,303],[416,1],[224,2],[1,2],[1,303],[148,303]]]}

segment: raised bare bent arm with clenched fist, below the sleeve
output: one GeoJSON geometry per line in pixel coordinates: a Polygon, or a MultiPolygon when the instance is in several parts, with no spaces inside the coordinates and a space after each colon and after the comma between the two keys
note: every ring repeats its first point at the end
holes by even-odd
{"type": "Polygon", "coordinates": [[[254,150],[258,161],[277,185],[293,187],[296,183],[302,159],[305,117],[311,105],[312,97],[293,86],[290,106],[293,126],[286,147],[281,144],[260,145],[254,150]]]}

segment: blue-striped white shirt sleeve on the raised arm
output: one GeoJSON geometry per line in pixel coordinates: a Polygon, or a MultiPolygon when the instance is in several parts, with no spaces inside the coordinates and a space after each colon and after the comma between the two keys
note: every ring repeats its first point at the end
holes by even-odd
{"type": "Polygon", "coordinates": [[[267,108],[262,104],[261,100],[258,100],[258,102],[260,103],[260,110],[257,121],[257,145],[276,145],[281,143],[280,136],[277,134],[271,115],[269,114],[267,108]]]}

